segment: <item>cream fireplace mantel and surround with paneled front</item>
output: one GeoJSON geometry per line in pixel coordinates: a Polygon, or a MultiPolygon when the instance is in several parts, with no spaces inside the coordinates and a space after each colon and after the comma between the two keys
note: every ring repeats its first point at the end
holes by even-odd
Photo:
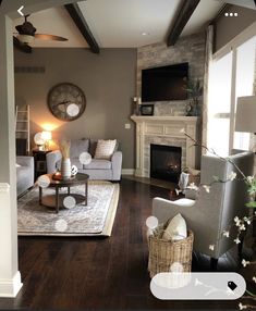
{"type": "Polygon", "coordinates": [[[182,128],[194,139],[198,139],[199,117],[197,116],[155,116],[132,115],[136,123],[136,176],[149,177],[150,144],[182,147],[182,166],[195,169],[196,148],[182,128]]]}

